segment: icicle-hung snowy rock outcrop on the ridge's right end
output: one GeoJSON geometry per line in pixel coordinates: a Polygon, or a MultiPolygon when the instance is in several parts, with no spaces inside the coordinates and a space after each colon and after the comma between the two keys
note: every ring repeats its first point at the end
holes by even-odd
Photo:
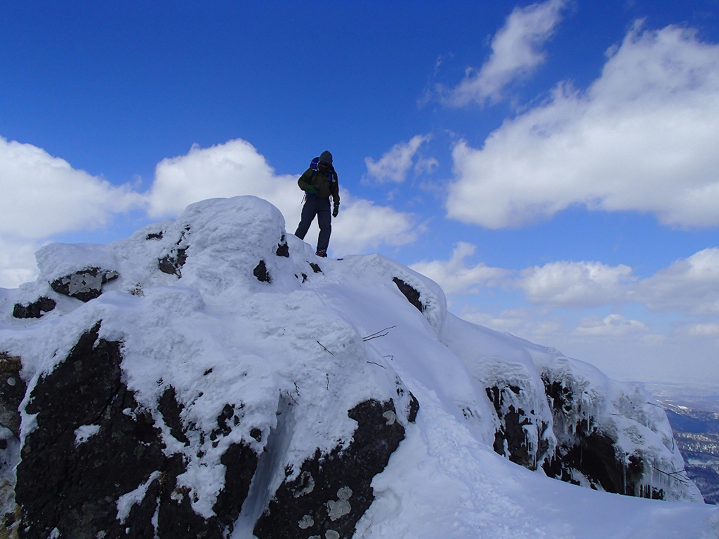
{"type": "Polygon", "coordinates": [[[613,382],[582,361],[452,315],[443,338],[493,402],[495,452],[583,487],[701,499],[684,473],[664,410],[641,387],[613,382]]]}

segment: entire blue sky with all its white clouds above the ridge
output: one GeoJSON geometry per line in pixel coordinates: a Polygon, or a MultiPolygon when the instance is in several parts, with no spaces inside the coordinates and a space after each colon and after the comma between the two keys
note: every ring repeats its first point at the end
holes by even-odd
{"type": "Polygon", "coordinates": [[[613,377],[719,384],[718,1],[265,4],[4,4],[0,286],[210,196],[291,232],[329,149],[331,254],[613,377]]]}

